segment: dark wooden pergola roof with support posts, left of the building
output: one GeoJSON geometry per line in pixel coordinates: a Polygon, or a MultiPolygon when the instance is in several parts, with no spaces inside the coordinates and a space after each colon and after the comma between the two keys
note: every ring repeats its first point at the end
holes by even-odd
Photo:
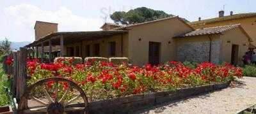
{"type": "MultiPolygon", "coordinates": [[[[38,57],[38,47],[42,47],[42,61],[44,59],[44,46],[49,46],[49,58],[52,57],[52,46],[60,45],[60,56],[64,56],[64,45],[78,43],[84,40],[109,38],[118,34],[126,34],[128,31],[80,31],[80,32],[53,32],[43,38],[40,38],[29,45],[26,48],[32,48],[33,53],[36,53],[38,57]]],[[[34,55],[34,54],[33,54],[34,55]]]]}

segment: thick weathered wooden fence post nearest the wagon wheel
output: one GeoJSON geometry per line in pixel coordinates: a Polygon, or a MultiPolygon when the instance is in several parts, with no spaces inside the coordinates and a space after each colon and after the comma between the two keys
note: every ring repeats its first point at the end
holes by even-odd
{"type": "Polygon", "coordinates": [[[20,67],[19,67],[19,76],[17,77],[17,81],[19,85],[17,85],[17,89],[19,89],[19,93],[17,93],[17,98],[20,100],[20,97],[26,92],[27,89],[27,70],[26,70],[26,64],[27,64],[27,48],[20,47],[20,67]]]}

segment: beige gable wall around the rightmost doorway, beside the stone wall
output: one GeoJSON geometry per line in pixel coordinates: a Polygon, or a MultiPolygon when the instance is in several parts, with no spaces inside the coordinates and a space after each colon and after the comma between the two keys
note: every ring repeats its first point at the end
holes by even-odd
{"type": "Polygon", "coordinates": [[[240,28],[224,32],[223,40],[223,62],[231,62],[232,45],[239,45],[238,64],[242,64],[242,57],[248,51],[249,41],[240,28]],[[230,43],[228,43],[230,41],[230,43]]]}

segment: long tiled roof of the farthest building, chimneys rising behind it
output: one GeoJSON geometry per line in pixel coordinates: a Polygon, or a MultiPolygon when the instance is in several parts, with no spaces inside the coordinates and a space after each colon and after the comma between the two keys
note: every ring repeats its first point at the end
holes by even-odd
{"type": "Polygon", "coordinates": [[[195,21],[195,22],[189,22],[189,25],[200,25],[200,24],[209,24],[212,22],[221,22],[225,20],[234,20],[239,18],[249,18],[249,17],[256,17],[256,13],[239,13],[234,15],[228,15],[224,17],[216,17],[216,18],[209,18],[205,20],[195,21]]]}

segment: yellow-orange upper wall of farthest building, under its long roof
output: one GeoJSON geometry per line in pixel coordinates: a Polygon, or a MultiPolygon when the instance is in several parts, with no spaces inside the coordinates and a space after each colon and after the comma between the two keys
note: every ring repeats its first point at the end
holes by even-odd
{"type": "Polygon", "coordinates": [[[220,25],[230,25],[230,24],[241,24],[244,31],[248,33],[248,35],[253,39],[253,45],[256,45],[256,17],[251,18],[241,18],[236,20],[226,20],[222,22],[213,22],[204,25],[192,25],[195,29],[201,27],[212,27],[212,26],[220,26],[220,25]]]}

